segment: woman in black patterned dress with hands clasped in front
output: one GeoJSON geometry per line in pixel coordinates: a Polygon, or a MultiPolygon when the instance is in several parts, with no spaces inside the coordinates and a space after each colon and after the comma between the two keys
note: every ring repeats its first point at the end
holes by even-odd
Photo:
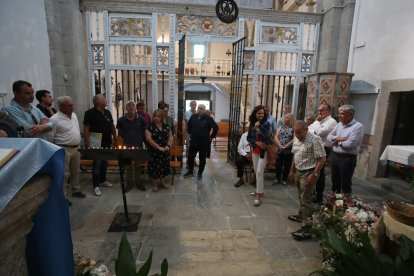
{"type": "Polygon", "coordinates": [[[154,111],[151,125],[145,130],[148,151],[152,161],[148,162],[148,173],[153,178],[152,190],[167,188],[163,183],[164,177],[170,174],[170,147],[172,135],[170,127],[164,123],[163,112],[154,111]]]}

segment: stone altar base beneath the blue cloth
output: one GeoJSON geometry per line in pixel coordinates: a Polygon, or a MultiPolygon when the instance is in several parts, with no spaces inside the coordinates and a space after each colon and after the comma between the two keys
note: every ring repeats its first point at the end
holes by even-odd
{"type": "Polygon", "coordinates": [[[50,176],[35,176],[0,213],[0,275],[27,275],[26,235],[33,216],[48,197],[50,176]]]}

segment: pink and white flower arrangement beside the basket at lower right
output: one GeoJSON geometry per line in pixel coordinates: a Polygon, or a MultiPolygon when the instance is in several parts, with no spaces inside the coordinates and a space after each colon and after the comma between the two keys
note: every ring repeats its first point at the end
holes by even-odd
{"type": "Polygon", "coordinates": [[[321,237],[323,269],[335,271],[341,257],[323,238],[321,231],[332,230],[338,238],[346,240],[349,246],[358,251],[363,246],[361,233],[368,234],[382,213],[383,210],[377,203],[368,204],[355,196],[328,193],[320,210],[307,221],[321,237]]]}

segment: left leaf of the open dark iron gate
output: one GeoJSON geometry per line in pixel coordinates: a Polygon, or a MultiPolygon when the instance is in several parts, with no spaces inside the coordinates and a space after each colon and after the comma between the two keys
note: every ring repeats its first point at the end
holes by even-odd
{"type": "Polygon", "coordinates": [[[185,35],[178,42],[178,145],[183,145],[185,35]]]}

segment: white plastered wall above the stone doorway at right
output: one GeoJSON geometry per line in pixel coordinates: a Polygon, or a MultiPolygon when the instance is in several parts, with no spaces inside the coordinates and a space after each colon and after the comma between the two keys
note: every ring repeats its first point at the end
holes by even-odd
{"type": "MultiPolygon", "coordinates": [[[[359,0],[351,72],[381,88],[381,81],[414,76],[414,2],[359,0]]],[[[355,28],[355,26],[354,26],[355,28]]],[[[352,45],[351,45],[352,48],[352,45]]]]}

